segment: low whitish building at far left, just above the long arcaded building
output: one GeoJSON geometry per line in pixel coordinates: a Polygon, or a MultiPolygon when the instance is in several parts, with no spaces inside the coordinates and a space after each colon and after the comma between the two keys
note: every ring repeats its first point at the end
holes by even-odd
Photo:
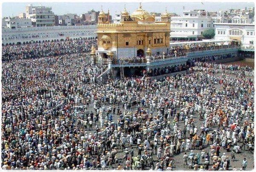
{"type": "Polygon", "coordinates": [[[27,28],[33,27],[30,19],[17,19],[17,18],[4,18],[2,19],[2,29],[3,28],[27,28]]]}

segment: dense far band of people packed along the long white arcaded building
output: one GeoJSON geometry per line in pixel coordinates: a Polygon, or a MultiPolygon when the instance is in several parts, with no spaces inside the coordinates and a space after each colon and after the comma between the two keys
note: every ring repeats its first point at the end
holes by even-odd
{"type": "Polygon", "coordinates": [[[4,45],[2,61],[89,53],[92,45],[97,45],[97,39],[66,39],[56,42],[4,45]]]}

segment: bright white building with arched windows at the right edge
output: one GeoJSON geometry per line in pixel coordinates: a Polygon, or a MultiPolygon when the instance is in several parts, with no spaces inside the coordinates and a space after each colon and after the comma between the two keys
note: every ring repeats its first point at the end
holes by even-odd
{"type": "Polygon", "coordinates": [[[215,23],[215,40],[239,40],[245,48],[254,47],[254,24],[215,23]]]}

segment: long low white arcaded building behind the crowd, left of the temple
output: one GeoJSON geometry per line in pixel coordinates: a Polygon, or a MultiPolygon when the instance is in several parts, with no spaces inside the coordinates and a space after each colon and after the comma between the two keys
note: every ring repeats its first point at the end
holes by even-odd
{"type": "Polygon", "coordinates": [[[96,38],[96,25],[51,26],[31,28],[2,28],[2,43],[23,44],[29,42],[60,41],[61,39],[96,38]]]}

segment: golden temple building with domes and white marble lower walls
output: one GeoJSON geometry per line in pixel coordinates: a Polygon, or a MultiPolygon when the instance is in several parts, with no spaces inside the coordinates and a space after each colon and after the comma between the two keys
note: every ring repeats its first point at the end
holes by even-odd
{"type": "Polygon", "coordinates": [[[124,9],[119,24],[110,23],[104,11],[99,13],[97,25],[97,58],[133,58],[169,51],[170,15],[164,12],[162,21],[143,10],[141,4],[131,15],[124,9]]]}

